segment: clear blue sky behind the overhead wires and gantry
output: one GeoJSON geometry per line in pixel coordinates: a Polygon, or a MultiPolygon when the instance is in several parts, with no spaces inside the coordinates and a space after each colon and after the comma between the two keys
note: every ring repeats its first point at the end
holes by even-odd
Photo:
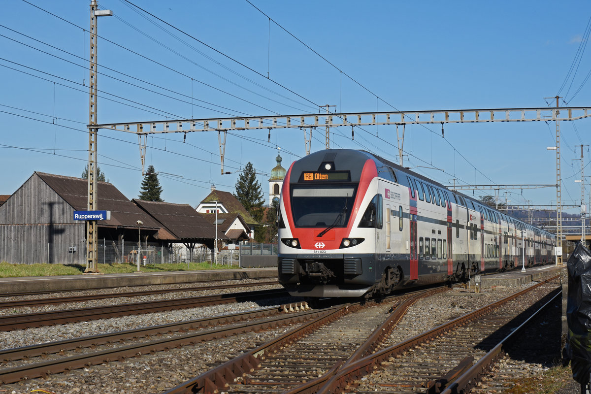
{"type": "MultiPolygon", "coordinates": [[[[98,2],[114,14],[98,21],[98,122],[317,113],[327,104],[337,112],[532,108],[554,103],[544,97],[559,92],[561,106],[591,106],[588,1],[250,1],[98,2]]],[[[85,168],[89,5],[3,2],[0,194],[14,193],[34,171],[79,177],[85,168]]],[[[561,123],[566,204],[580,201],[577,145],[591,144],[590,126],[589,119],[561,123]]],[[[555,127],[450,124],[442,139],[439,124],[409,126],[404,165],[443,184],[554,184],[556,157],[546,147],[555,145],[555,127]]],[[[354,141],[350,128],[333,129],[331,145],[398,161],[393,126],[356,129],[354,141]]],[[[303,132],[273,130],[270,142],[267,130],[230,132],[229,175],[220,175],[217,133],[151,136],[146,166],[159,172],[165,201],[197,206],[211,184],[233,192],[252,162],[268,198],[277,148],[288,168],[305,155],[303,132]]],[[[323,148],[320,129],[312,150],[323,148]]],[[[101,130],[98,152],[111,183],[137,197],[137,136],[101,130]]],[[[589,146],[583,152],[591,175],[589,146]]],[[[499,197],[553,204],[556,190],[499,197]]]]}

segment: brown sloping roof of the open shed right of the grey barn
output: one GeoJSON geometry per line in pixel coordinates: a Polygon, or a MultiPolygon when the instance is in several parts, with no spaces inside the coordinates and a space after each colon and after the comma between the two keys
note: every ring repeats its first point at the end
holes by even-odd
{"type": "MultiPolygon", "coordinates": [[[[213,240],[215,226],[199,214],[189,204],[173,204],[160,201],[132,200],[142,210],[162,223],[167,232],[179,240],[213,240]]],[[[228,239],[217,229],[217,239],[228,239]]],[[[165,234],[163,233],[163,237],[165,234]]],[[[165,239],[165,238],[164,238],[165,239]]]]}

